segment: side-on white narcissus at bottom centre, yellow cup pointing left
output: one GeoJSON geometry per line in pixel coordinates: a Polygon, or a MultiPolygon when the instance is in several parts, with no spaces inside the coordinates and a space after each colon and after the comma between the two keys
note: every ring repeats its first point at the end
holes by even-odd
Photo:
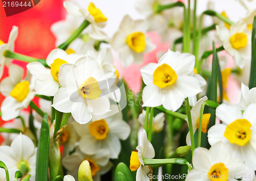
{"type": "Polygon", "coordinates": [[[150,141],[147,140],[146,131],[143,129],[141,134],[141,145],[137,146],[136,151],[132,151],[130,159],[131,171],[136,171],[136,180],[149,181],[147,174],[150,172],[150,167],[144,165],[143,157],[146,159],[152,159],[155,157],[155,150],[150,141]]]}

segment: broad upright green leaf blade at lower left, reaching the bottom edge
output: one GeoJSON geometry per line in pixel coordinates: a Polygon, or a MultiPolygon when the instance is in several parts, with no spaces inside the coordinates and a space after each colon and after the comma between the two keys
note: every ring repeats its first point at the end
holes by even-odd
{"type": "Polygon", "coordinates": [[[40,138],[37,147],[35,174],[35,180],[37,181],[48,180],[50,129],[47,121],[48,115],[45,113],[44,119],[42,120],[40,138]]]}

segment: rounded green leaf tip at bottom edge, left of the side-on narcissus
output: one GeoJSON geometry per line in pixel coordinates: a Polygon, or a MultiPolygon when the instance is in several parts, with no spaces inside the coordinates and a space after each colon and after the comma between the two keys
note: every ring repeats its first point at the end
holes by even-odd
{"type": "Polygon", "coordinates": [[[119,163],[116,167],[115,181],[119,180],[133,180],[131,170],[124,163],[119,163]]]}

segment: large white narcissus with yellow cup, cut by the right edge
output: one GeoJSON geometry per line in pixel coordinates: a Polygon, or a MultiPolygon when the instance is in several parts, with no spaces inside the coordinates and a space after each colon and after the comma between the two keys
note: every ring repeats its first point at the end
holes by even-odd
{"type": "Polygon", "coordinates": [[[256,169],[256,104],[250,104],[242,111],[234,105],[221,104],[216,109],[216,116],[221,124],[208,130],[210,145],[222,141],[234,156],[245,161],[245,164],[256,169]]]}

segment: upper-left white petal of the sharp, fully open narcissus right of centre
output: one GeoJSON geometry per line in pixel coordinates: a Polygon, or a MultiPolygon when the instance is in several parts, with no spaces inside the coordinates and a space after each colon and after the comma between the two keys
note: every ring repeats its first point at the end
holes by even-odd
{"type": "Polygon", "coordinates": [[[153,83],[153,73],[157,68],[157,63],[148,63],[140,69],[143,82],[148,85],[153,83]]]}

